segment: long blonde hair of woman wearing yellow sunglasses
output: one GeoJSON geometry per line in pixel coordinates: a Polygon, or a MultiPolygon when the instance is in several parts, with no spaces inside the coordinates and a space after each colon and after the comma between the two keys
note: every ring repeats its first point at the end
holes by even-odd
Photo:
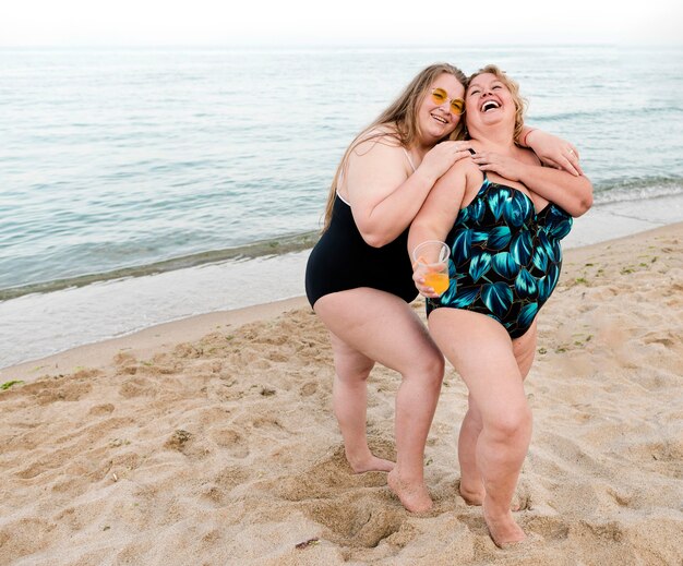
{"type": "MultiPolygon", "coordinates": [[[[344,153],[344,157],[342,157],[337,166],[332,185],[329,186],[329,195],[327,196],[327,205],[325,206],[325,225],[323,232],[329,226],[337,186],[342,171],[346,169],[350,153],[358,144],[369,140],[376,140],[376,143],[395,143],[403,147],[410,147],[420,135],[420,125],[418,123],[418,110],[420,105],[427,96],[429,87],[436,77],[443,73],[455,76],[463,86],[467,86],[467,76],[456,67],[448,63],[432,64],[420,71],[398,98],[354,139],[344,153]]],[[[460,140],[465,130],[464,122],[464,120],[459,120],[455,130],[450,135],[445,136],[444,140],[460,140]]],[[[441,141],[443,140],[440,140],[440,142],[441,141]]]]}

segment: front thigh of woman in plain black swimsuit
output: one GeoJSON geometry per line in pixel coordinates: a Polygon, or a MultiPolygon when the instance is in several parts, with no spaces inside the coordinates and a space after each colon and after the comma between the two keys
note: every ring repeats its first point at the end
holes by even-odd
{"type": "Polygon", "coordinates": [[[347,347],[400,373],[442,358],[420,317],[394,294],[368,287],[331,293],[315,313],[347,347]]]}

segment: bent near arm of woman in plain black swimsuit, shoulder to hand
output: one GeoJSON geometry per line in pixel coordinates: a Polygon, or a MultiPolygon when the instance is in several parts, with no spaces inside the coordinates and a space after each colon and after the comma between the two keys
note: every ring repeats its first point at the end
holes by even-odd
{"type": "Polygon", "coordinates": [[[402,147],[367,141],[351,153],[347,189],[358,229],[379,248],[395,240],[412,221],[438,179],[469,155],[469,142],[442,142],[427,153],[412,174],[402,147]]]}

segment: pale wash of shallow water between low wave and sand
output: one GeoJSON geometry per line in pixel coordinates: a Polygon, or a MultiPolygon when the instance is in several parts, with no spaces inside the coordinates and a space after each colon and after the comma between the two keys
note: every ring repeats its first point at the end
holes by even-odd
{"type": "MultiPolygon", "coordinates": [[[[570,252],[681,221],[683,194],[600,204],[575,220],[563,249],[570,252]]],[[[0,302],[4,323],[0,345],[12,345],[4,350],[0,346],[0,380],[11,372],[35,374],[32,370],[74,348],[110,340],[128,342],[139,333],[146,336],[156,327],[182,325],[184,320],[194,321],[192,324],[201,316],[224,320],[231,312],[301,298],[309,252],[177,269],[0,302]],[[63,321],[69,321],[67,328],[63,321]]]]}

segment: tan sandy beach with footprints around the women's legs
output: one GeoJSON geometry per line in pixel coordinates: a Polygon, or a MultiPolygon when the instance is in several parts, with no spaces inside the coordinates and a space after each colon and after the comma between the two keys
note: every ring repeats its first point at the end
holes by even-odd
{"type": "MultiPolygon", "coordinates": [[[[426,453],[434,509],[351,473],[328,339],[299,298],[3,369],[0,564],[683,564],[683,224],[568,250],[539,330],[515,550],[457,495],[452,368],[426,453]]],[[[379,365],[369,384],[388,458],[398,384],[379,365]]]]}

